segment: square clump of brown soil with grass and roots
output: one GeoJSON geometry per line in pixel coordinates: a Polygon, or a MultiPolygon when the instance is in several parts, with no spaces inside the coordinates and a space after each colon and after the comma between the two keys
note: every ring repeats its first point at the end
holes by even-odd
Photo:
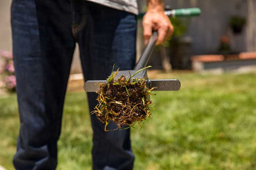
{"type": "Polygon", "coordinates": [[[135,74],[128,79],[122,75],[115,80],[117,72],[111,74],[107,83],[99,83],[99,104],[92,112],[105,123],[105,131],[108,131],[109,121],[115,122],[117,129],[121,129],[123,125],[132,126],[151,116],[149,95],[152,95],[154,88],[148,89],[145,79],[132,79],[135,74]]]}

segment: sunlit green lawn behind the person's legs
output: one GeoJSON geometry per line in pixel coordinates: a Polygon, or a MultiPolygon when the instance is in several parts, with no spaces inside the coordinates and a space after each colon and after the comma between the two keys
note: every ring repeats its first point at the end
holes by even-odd
{"type": "MultiPolygon", "coordinates": [[[[153,116],[132,129],[134,169],[256,169],[256,74],[175,74],[156,92],[153,116]]],[[[15,96],[0,99],[0,165],[13,169],[15,96]]],[[[84,93],[66,97],[58,169],[90,169],[92,130],[84,93]]]]}

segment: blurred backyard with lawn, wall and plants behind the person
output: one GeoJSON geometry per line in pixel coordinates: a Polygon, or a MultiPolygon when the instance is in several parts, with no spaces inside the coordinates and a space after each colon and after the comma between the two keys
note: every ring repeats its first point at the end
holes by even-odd
{"type": "MultiPolygon", "coordinates": [[[[146,11],[146,1],[138,1],[146,11]]],[[[10,26],[11,1],[0,1],[0,166],[14,169],[19,130],[10,26]]],[[[153,116],[132,129],[134,169],[256,169],[256,1],[168,0],[173,36],[154,49],[150,79],[181,81],[155,92],[153,116]]],[[[143,50],[138,19],[137,58],[143,50]]],[[[78,49],[70,72],[57,169],[90,169],[92,130],[78,49]]],[[[0,167],[1,169],[1,167],[0,167]]]]}

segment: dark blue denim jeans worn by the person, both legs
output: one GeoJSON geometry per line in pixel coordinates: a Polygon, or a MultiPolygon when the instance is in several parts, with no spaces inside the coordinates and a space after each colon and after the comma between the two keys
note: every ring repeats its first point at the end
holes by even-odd
{"type": "MultiPolygon", "coordinates": [[[[106,79],[114,63],[132,69],[136,16],[82,0],[13,0],[11,14],[20,116],[14,167],[55,169],[75,43],[85,80],[106,79]]],[[[87,96],[92,111],[97,95],[87,96]]],[[[104,132],[95,115],[91,122],[93,169],[132,169],[130,130],[104,132]]]]}

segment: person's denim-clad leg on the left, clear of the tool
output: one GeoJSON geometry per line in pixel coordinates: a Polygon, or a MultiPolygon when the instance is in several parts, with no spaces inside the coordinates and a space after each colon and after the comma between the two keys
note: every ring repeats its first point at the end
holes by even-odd
{"type": "Polygon", "coordinates": [[[13,159],[16,169],[57,166],[63,100],[75,47],[69,6],[57,1],[13,0],[12,3],[20,116],[17,153],[13,159]]]}

